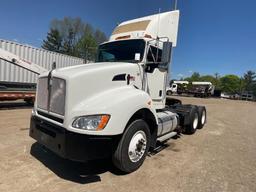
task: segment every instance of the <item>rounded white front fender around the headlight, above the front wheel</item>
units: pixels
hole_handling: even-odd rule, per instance
[[[156,118],[150,96],[133,86],[119,87],[101,92],[81,101],[69,113],[65,122],[67,129],[73,132],[89,135],[119,135],[122,134],[133,114],[143,108],[149,109]],[[87,131],[73,128],[72,122],[76,117],[84,115],[109,114],[110,120],[101,131]],[[156,120],[157,121],[157,120]]]

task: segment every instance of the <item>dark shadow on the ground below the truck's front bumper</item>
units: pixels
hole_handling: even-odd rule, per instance
[[[80,184],[100,182],[99,174],[113,170],[110,160],[73,162],[60,158],[37,142],[31,146],[30,154],[60,178]]]

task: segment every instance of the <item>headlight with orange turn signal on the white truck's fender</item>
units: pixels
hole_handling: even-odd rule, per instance
[[[90,115],[78,117],[72,123],[72,127],[90,131],[99,131],[105,128],[110,115]]]

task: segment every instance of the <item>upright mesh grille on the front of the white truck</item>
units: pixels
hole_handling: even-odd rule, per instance
[[[53,77],[50,82],[50,85],[48,85],[47,77],[39,79],[37,91],[37,106],[40,109],[57,113],[59,115],[64,115],[66,82],[63,79],[56,77]]]

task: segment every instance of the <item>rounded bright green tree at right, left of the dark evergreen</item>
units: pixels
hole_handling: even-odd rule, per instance
[[[237,75],[225,75],[220,78],[223,92],[235,94],[240,92],[241,81]]]

